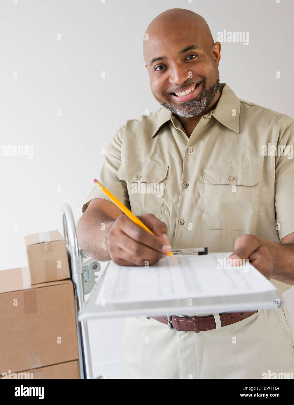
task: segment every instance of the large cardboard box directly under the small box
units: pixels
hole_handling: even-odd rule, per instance
[[[70,279],[31,286],[28,268],[0,271],[0,375],[77,360]]]

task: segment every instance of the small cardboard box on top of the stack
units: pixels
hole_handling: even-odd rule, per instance
[[[70,278],[65,241],[58,230],[24,237],[32,284]]]

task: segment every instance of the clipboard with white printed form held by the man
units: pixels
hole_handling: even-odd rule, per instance
[[[168,288],[169,286],[167,286],[165,276],[168,272],[170,272],[169,274],[171,275],[172,279],[176,277],[175,274],[178,274],[177,277],[182,277],[182,280],[180,281],[184,280],[186,286],[189,285],[190,282],[192,282],[193,284],[193,277],[194,279],[196,277],[196,279],[200,282],[201,287],[205,285],[210,286],[210,284],[212,285],[213,283],[217,285],[217,289],[219,289],[220,294],[208,295],[210,294],[210,292],[207,292],[206,289],[204,289],[202,290],[202,292],[204,292],[205,294],[207,292],[207,294],[201,295],[201,293],[196,293],[195,283],[193,284],[194,287],[191,290],[191,296],[189,296],[189,298],[193,298],[193,306],[188,308],[188,312],[195,313],[197,315],[215,312],[274,309],[276,308],[276,299],[279,298],[281,300],[281,298],[277,295],[277,289],[275,288],[275,286],[273,286],[270,281],[268,281],[256,269],[254,269],[251,264],[249,264],[249,266],[252,266],[253,272],[250,271],[249,273],[244,274],[244,276],[240,275],[240,277],[241,279],[244,279],[244,282],[246,282],[246,280],[249,280],[253,287],[249,289],[246,294],[244,292],[240,293],[237,290],[232,290],[230,294],[226,294],[225,286],[228,286],[231,283],[230,277],[232,277],[232,283],[238,281],[238,277],[235,273],[235,275],[226,275],[226,277],[228,277],[227,279],[222,278],[225,277],[222,274],[228,272],[224,271],[222,273],[221,270],[217,269],[217,260],[219,260],[219,258],[221,257],[223,258],[224,255],[228,257],[228,255],[230,255],[231,253],[208,253],[208,249],[205,247],[193,249],[174,249],[173,253],[178,255],[178,259],[182,262],[182,265],[183,261],[185,261],[186,263],[189,263],[188,266],[186,265],[186,267],[179,267],[177,266],[176,262],[170,260],[170,258],[163,258],[161,259],[163,261],[162,263],[164,263],[164,261],[166,260],[168,262],[168,269],[165,266],[167,262],[165,262],[165,264],[160,264],[159,261],[154,265],[150,265],[148,269],[144,269],[143,266],[122,266],[122,268],[120,268],[121,266],[114,265],[114,267],[112,267],[111,269],[111,272],[107,273],[109,264],[111,263],[111,261],[109,261],[107,263],[107,266],[105,267],[105,270],[94,286],[92,292],[90,293],[88,301],[79,311],[78,320],[81,321],[87,319],[101,319],[109,317],[118,318],[144,315],[162,316],[167,313],[186,313],[187,297],[183,298],[183,296],[178,294],[177,292],[176,294],[174,294],[174,296],[163,294],[161,296],[156,295],[155,298],[152,298],[152,295],[149,294],[151,288],[154,292],[154,285],[156,284],[154,284],[154,281],[156,279],[159,280],[159,284],[156,286],[156,288],[163,288],[163,292],[167,291],[166,288]],[[195,261],[198,263],[198,259],[196,259],[195,256],[199,257],[199,268],[195,268]],[[140,270],[141,273],[139,273]],[[106,273],[108,277],[107,284],[105,286],[105,284],[103,284],[103,281],[105,280]],[[132,274],[133,276],[130,276],[130,274]],[[133,297],[133,301],[126,301],[123,299],[120,300],[120,296],[124,296],[124,288],[128,288],[128,281],[133,280],[132,277],[135,277],[135,279],[139,279],[140,281],[140,285],[135,287],[137,288],[135,298]],[[207,284],[202,283],[203,278],[208,280]],[[112,280],[110,284],[109,279]],[[211,281],[213,282],[211,283]],[[260,283],[260,286],[262,286],[263,288],[263,290],[260,290],[260,292],[257,290],[256,281]],[[103,291],[101,291],[102,286],[104,287]],[[180,284],[174,283],[173,286],[176,290],[178,290]],[[105,288],[106,290],[108,289],[108,291],[114,292],[116,295],[118,293],[118,295],[120,295],[118,299],[111,301],[111,297],[107,296],[106,294],[104,300],[105,303],[103,304],[102,302],[100,302],[104,297]],[[232,287],[229,286],[227,288]],[[147,291],[147,294],[146,289],[149,289]],[[127,290],[125,291],[127,292]]]

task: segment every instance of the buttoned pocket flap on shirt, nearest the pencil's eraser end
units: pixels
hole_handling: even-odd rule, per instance
[[[168,166],[164,164],[140,164],[124,160],[116,176],[120,180],[131,181],[133,183],[160,183],[167,175]]]

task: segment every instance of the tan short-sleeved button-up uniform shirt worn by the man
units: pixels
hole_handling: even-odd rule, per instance
[[[231,252],[242,234],[279,242],[294,232],[294,120],[225,83],[220,92],[189,139],[161,107],[128,120],[105,153],[101,183],[135,215],[165,222],[172,249]],[[92,198],[109,200],[94,186],[83,213]],[[271,281],[279,293],[290,288]]]

